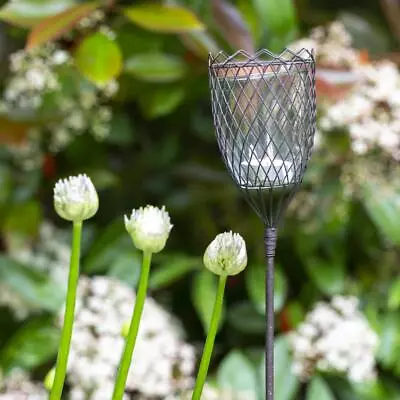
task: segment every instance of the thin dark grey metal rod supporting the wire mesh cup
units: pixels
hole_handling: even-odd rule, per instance
[[[276,249],[276,228],[265,229],[266,272],[266,332],[265,332],[265,398],[274,399],[274,258]]]

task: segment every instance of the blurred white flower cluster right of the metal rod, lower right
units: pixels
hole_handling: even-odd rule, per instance
[[[378,336],[358,311],[356,297],[320,302],[291,335],[293,371],[302,380],[314,370],[346,375],[353,382],[375,377]]]

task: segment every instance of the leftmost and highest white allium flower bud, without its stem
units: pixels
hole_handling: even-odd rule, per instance
[[[60,179],[54,186],[54,208],[68,221],[89,219],[99,208],[96,188],[86,175]]]

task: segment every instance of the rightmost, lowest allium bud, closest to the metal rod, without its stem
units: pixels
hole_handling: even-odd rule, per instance
[[[203,261],[214,274],[237,275],[247,265],[246,243],[238,233],[220,233],[208,245]]]

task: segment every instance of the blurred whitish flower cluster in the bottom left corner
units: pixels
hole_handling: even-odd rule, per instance
[[[22,370],[14,369],[0,378],[0,400],[47,400],[48,396],[43,384],[32,382]]]

